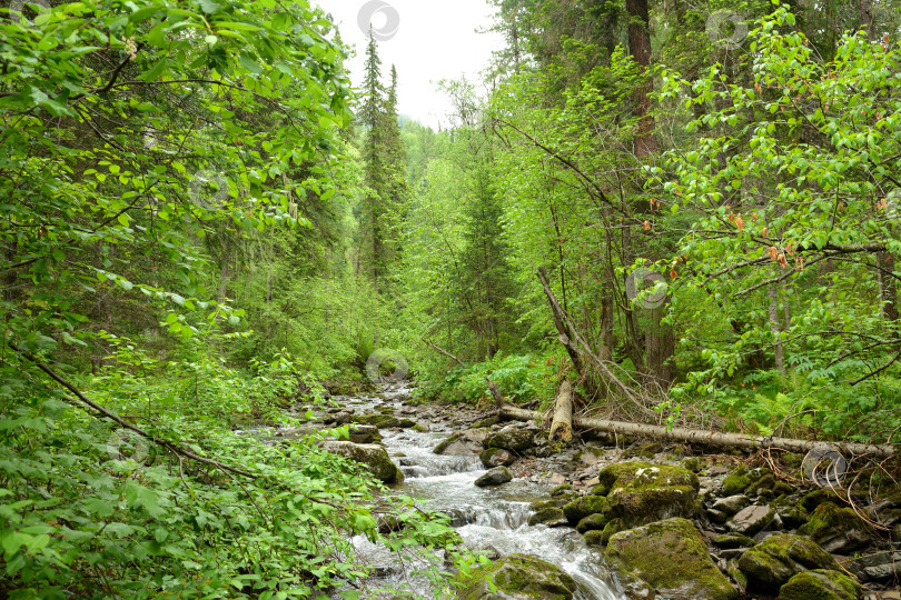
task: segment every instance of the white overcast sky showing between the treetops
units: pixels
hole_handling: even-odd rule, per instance
[[[372,10],[372,0],[316,1],[338,22],[344,41],[356,47],[348,67],[354,86],[359,87],[367,38],[360,31],[358,16],[364,8]],[[446,127],[449,106],[436,83],[462,74],[481,81],[477,76],[488,67],[492,51],[503,46],[495,33],[475,32],[492,24],[494,8],[487,0],[383,0],[383,3],[390,4],[399,17],[397,33],[378,42],[385,83],[392,64],[397,67],[398,112],[436,129],[439,122]],[[389,9],[375,13],[372,20],[376,30],[388,26],[388,12]]]

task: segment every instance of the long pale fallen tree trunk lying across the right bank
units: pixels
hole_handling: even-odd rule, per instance
[[[504,406],[501,416],[521,421],[541,421],[544,414],[533,410],[524,410],[516,407]],[[809,452],[815,448],[830,447],[839,450],[846,457],[871,456],[875,458],[889,458],[895,454],[893,446],[877,446],[870,443],[853,442],[830,442],[830,441],[808,441],[791,438],[764,438],[762,436],[749,436],[746,433],[722,433],[717,431],[703,431],[699,429],[685,429],[674,427],[666,429],[661,426],[625,423],[622,421],[607,421],[605,419],[573,419],[573,424],[581,429],[593,429],[607,433],[624,436],[643,436],[661,440],[701,443],[707,446],[733,447],[733,448],[775,448],[789,452]]]

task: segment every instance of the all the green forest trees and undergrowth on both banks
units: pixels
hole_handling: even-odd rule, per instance
[[[242,432],[380,349],[420,402],[898,443],[898,1],[489,3],[442,131],[307,0],[0,10],[0,596],[362,597],[354,533],[468,568],[346,428]]]

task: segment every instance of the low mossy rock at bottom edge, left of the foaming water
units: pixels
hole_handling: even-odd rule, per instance
[[[488,588],[488,574],[494,578],[496,592]],[[469,574],[459,572],[455,582],[462,586],[457,589],[459,600],[572,600],[578,587],[560,567],[527,554],[509,554]]]

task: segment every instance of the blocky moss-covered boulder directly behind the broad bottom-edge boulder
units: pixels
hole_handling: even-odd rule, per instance
[[[606,496],[606,514],[622,519],[626,527],[691,517],[696,510],[697,476],[682,467],[621,462],[602,469],[598,479],[593,493]]]

